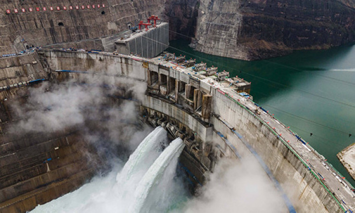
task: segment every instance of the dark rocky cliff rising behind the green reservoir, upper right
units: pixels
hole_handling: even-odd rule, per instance
[[[255,60],[354,42],[354,5],[353,0],[200,0],[196,50]]]

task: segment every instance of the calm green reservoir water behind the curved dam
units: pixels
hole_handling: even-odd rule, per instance
[[[355,143],[355,45],[242,61],[199,53],[188,44],[171,41],[168,51],[251,81],[254,101],[301,135],[355,186],[336,157]]]

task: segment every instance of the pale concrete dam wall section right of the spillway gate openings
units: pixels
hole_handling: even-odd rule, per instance
[[[298,200],[294,202],[298,212],[342,212],[336,200],[272,129],[227,96],[215,92],[214,97],[214,110],[220,115],[212,118],[214,128],[236,144],[238,150],[245,146],[230,127],[240,133],[262,157],[290,199]]]

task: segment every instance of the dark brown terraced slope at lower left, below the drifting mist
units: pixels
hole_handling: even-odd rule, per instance
[[[22,118],[13,105],[25,105],[28,95],[26,86],[0,92],[0,212],[26,212],[78,188],[99,162],[80,128],[45,133],[17,129]]]

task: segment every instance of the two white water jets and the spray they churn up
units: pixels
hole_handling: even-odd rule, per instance
[[[107,176],[97,176],[80,189],[39,205],[31,212],[120,213],[129,212],[135,202],[143,203],[150,212],[166,212],[176,200],[186,197],[180,179],[175,179],[177,158],[183,149],[182,141],[174,140],[162,153],[162,147],[166,144],[166,131],[157,127],[141,142],[120,172],[122,167],[118,163]],[[162,157],[158,157],[160,153]],[[158,168],[159,165],[162,168]],[[154,175],[152,172],[158,173]],[[141,184],[142,181],[149,183],[149,188]],[[140,187],[146,193],[141,197],[143,200],[135,196]],[[166,190],[162,193],[161,188]]]

